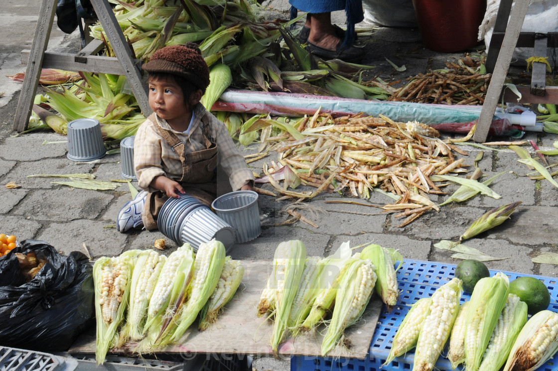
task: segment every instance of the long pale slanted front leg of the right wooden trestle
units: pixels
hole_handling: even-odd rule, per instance
[[[479,120],[477,121],[477,129],[475,130],[475,134],[473,134],[473,140],[475,142],[482,143],[487,139],[488,131],[490,130],[490,125],[492,125],[494,112],[496,112],[498,99],[502,93],[504,80],[508,74],[509,63],[512,60],[517,37],[521,32],[528,6],[529,0],[516,0],[514,2],[508,27],[506,28],[506,36],[504,36],[502,48],[500,49],[496,65],[494,66],[494,73],[488,85],[487,95],[484,99],[483,108],[480,111]]]

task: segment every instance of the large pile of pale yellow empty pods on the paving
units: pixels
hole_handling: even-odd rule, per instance
[[[278,125],[270,121],[260,119],[252,126],[270,129],[262,131],[260,152],[277,151],[278,162],[264,164],[265,176],[256,182],[271,183],[282,195],[278,200],[310,199],[324,191],[368,199],[371,191],[378,191],[396,200],[382,208],[405,217],[402,227],[430,209],[439,211],[429,194],[446,193],[431,177],[467,172],[465,159],[454,156],[466,153],[416,121],[360,115],[333,118],[318,111],[294,125],[281,123],[287,130],[279,136],[270,136],[271,126]],[[301,183],[316,189],[292,189]]]

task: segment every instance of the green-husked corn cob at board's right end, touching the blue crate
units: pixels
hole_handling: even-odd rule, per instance
[[[393,259],[395,257],[395,259]],[[368,245],[360,253],[360,259],[370,259],[376,267],[378,282],[376,292],[386,303],[388,311],[397,304],[399,287],[397,285],[397,270],[403,265],[403,256],[393,249],[384,249],[380,245]],[[399,260],[400,264],[395,269],[393,264]]]

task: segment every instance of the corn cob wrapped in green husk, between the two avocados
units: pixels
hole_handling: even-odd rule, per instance
[[[508,298],[509,279],[498,272],[475,285],[465,316],[465,368],[477,371]]]

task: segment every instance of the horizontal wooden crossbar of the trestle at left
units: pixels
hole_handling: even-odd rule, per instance
[[[21,63],[27,65],[29,50],[21,51]],[[66,71],[83,71],[94,73],[110,73],[124,75],[124,70],[118,59],[110,56],[89,55],[81,56],[80,61],[75,60],[75,54],[68,53],[45,53],[42,68],[57,68]],[[83,60],[83,62],[81,62]]]

